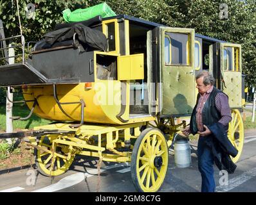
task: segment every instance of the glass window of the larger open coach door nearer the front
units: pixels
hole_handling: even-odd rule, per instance
[[[165,33],[170,37],[170,65],[190,65],[190,44],[187,33]]]

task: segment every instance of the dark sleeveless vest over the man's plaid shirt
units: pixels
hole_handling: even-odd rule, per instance
[[[205,106],[203,107],[203,111],[202,111],[203,124],[207,127],[212,126],[213,124],[215,124],[221,119],[221,113],[219,113],[219,111],[215,106],[215,97],[219,92],[221,92],[221,90],[218,90],[217,88],[214,87],[210,96],[205,102]],[[197,94],[196,106],[194,107],[194,110],[192,112],[191,119],[190,119],[190,131],[193,135],[195,135],[198,131],[197,124],[196,124],[196,108],[199,101],[199,97],[200,97],[200,94]],[[225,126],[224,129],[228,130],[228,126]]]

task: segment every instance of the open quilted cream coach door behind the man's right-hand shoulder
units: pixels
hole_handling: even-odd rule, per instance
[[[241,45],[220,44],[221,90],[228,95],[231,108],[242,106]]]

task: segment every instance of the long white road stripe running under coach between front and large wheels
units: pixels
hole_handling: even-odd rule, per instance
[[[127,165],[129,165],[129,164],[128,163],[120,163],[120,164],[114,164],[114,165],[102,167],[100,169],[100,173],[104,172],[105,170],[109,170],[111,168],[124,167]],[[68,188],[69,186],[78,184],[78,183],[84,181],[85,177],[87,177],[87,178],[92,177],[92,176],[95,176],[95,174],[98,174],[98,169],[96,169],[96,168],[88,170],[88,173],[79,172],[76,174],[72,174],[70,176],[64,177],[63,179],[60,179],[60,181],[58,181],[55,184],[51,184],[50,186],[46,186],[44,188],[35,190],[33,192],[56,192],[56,191],[62,190],[64,188]]]

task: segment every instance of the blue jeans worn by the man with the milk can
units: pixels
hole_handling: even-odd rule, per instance
[[[214,156],[205,141],[210,136],[199,136],[197,146],[198,169],[202,177],[201,192],[215,192]]]

